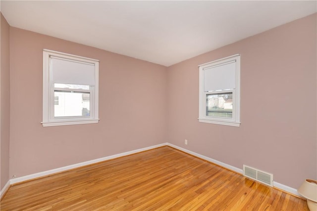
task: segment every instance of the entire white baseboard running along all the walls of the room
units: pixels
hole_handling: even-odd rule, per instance
[[[143,152],[143,151],[146,151],[146,150],[151,150],[151,149],[162,147],[162,146],[170,146],[172,148],[175,148],[175,149],[180,150],[182,152],[185,152],[185,153],[188,153],[190,155],[196,156],[198,158],[202,158],[202,159],[205,159],[207,161],[213,162],[213,163],[215,163],[215,164],[217,164],[219,166],[222,166],[224,168],[230,169],[230,170],[232,170],[234,172],[243,174],[243,170],[241,168],[237,168],[235,166],[226,164],[224,162],[220,162],[218,160],[209,158],[207,156],[200,155],[198,153],[195,153],[193,151],[178,147],[178,146],[170,144],[170,143],[163,143],[163,144],[154,145],[154,146],[151,146],[151,147],[146,147],[146,148],[142,148],[142,149],[138,149],[138,150],[133,150],[133,151],[125,152],[125,153],[120,153],[120,154],[116,154],[116,155],[112,155],[112,156],[107,156],[107,157],[104,157],[104,158],[93,159],[93,160],[80,162],[80,163],[73,164],[73,165],[67,165],[67,166],[64,166],[64,167],[55,168],[55,169],[48,170],[48,171],[43,171],[43,172],[39,172],[39,173],[35,173],[35,174],[30,174],[30,175],[26,175],[26,176],[10,179],[5,184],[5,186],[1,189],[1,197],[2,197],[2,194],[5,193],[5,191],[9,188],[9,186],[11,184],[15,184],[15,183],[18,183],[18,182],[23,182],[23,181],[30,180],[30,179],[35,179],[35,178],[42,177],[42,176],[47,176],[47,175],[50,175],[50,174],[58,173],[58,172],[65,171],[65,170],[70,170],[70,169],[73,169],[73,168],[78,168],[78,167],[81,167],[81,166],[85,166],[85,165],[89,165],[89,164],[93,164],[93,163],[97,163],[97,162],[101,162],[101,161],[105,161],[105,160],[109,160],[109,159],[113,159],[113,158],[119,158],[119,157],[122,157],[122,156],[128,156],[128,155],[131,155],[131,154]],[[297,190],[295,188],[291,188],[289,186],[280,184],[278,182],[273,182],[273,187],[276,187],[276,188],[281,189],[281,190],[283,190],[285,192],[288,192],[288,193],[291,193],[293,195],[301,197],[301,195],[297,192]]]

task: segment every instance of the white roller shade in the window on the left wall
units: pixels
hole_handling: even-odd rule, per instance
[[[53,83],[95,85],[95,65],[51,56]]]

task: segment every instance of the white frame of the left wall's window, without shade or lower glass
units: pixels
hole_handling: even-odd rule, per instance
[[[54,88],[53,70],[51,68],[50,57],[60,57],[62,59],[70,59],[77,62],[90,63],[95,66],[95,85],[90,86],[90,90],[77,90],[68,88]],[[61,53],[56,51],[43,50],[43,127],[74,125],[74,124],[89,124],[98,123],[99,121],[99,60],[87,58],[83,56]],[[67,116],[54,117],[54,90],[60,91],[80,91],[90,93],[90,116]]]

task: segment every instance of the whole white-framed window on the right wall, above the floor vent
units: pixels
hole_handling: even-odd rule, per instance
[[[240,55],[199,65],[199,121],[240,126]]]

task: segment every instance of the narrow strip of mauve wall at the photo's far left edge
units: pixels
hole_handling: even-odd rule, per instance
[[[9,24],[0,13],[1,19],[1,72],[0,72],[0,149],[1,149],[1,168],[0,168],[0,189],[9,180],[9,135],[10,135],[10,59],[9,59]]]

